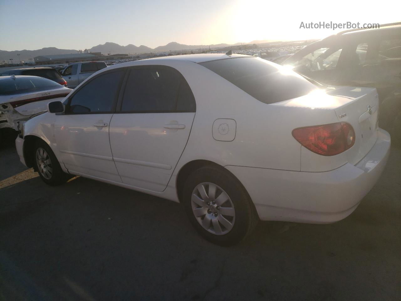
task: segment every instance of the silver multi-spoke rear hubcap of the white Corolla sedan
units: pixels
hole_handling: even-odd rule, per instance
[[[235,209],[227,193],[216,184],[204,182],[192,191],[192,212],[201,226],[216,235],[233,228]]]

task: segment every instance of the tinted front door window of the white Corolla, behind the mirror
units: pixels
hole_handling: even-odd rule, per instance
[[[95,77],[79,89],[69,101],[67,114],[109,113],[113,106],[122,81],[124,71],[105,73]]]

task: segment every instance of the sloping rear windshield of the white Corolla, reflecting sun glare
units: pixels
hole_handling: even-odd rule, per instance
[[[200,63],[265,104],[304,96],[318,87],[294,71],[257,57]]]

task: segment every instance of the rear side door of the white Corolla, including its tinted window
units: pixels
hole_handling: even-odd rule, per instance
[[[166,66],[133,67],[110,122],[123,183],[163,191],[188,141],[196,110],[184,77]]]

